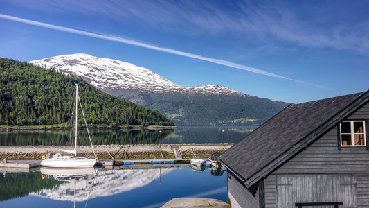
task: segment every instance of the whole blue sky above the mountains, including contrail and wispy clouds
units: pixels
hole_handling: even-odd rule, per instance
[[[369,1],[0,0],[0,57],[87,53],[291,103],[369,89]]]

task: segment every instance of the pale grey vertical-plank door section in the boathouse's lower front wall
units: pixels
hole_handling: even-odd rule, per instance
[[[277,175],[277,207],[294,207],[296,202],[343,202],[357,207],[356,176]]]

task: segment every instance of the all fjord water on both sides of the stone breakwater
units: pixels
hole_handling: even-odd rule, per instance
[[[255,127],[177,128],[162,130],[93,129],[96,145],[235,143]],[[224,131],[223,131],[224,130]],[[79,131],[78,145],[89,145]],[[0,146],[68,145],[73,135],[64,130],[0,132]],[[0,168],[0,207],[161,207],[172,198],[201,197],[228,201],[226,171],[195,171],[189,164],[116,166],[96,175],[67,180],[44,175],[42,168],[21,173]],[[215,176],[217,175],[217,176]],[[75,191],[74,191],[75,190]]]

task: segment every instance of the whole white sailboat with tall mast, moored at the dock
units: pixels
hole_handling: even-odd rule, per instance
[[[95,159],[89,159],[87,157],[77,155],[78,101],[80,103],[80,108],[82,111],[84,123],[87,128],[87,134],[89,135],[91,148],[93,151],[93,155],[95,155]],[[53,157],[48,157],[48,155],[46,155],[45,159],[42,159],[41,161],[41,166],[51,167],[51,168],[90,168],[90,167],[95,166],[96,164],[96,160],[97,160],[96,153],[95,153],[95,150],[93,150],[93,145],[92,145],[91,137],[89,134],[89,128],[87,127],[87,122],[86,122],[86,119],[84,118],[84,112],[82,110],[80,96],[78,96],[78,84],[75,84],[75,147],[73,150],[60,149],[60,151],[64,153],[71,153],[73,156],[64,155],[63,153],[56,153],[55,155],[53,155]]]

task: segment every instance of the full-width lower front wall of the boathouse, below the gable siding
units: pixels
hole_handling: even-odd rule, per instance
[[[265,207],[295,207],[296,202],[343,202],[342,208],[369,207],[369,173],[269,175],[264,183],[266,196],[273,196],[265,200]]]

